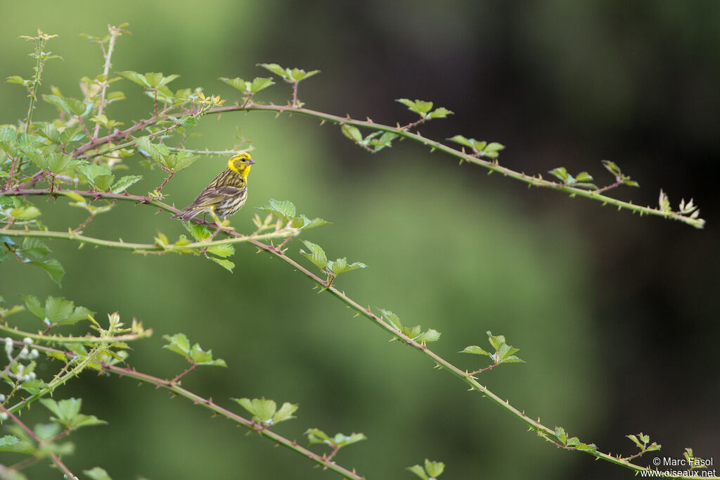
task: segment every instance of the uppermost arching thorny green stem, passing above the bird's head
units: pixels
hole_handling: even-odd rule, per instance
[[[323,122],[330,122],[336,125],[353,125],[355,127],[359,128],[369,128],[370,130],[379,130],[382,132],[390,132],[395,133],[395,135],[399,135],[402,138],[408,138],[410,140],[416,141],[418,143],[422,143],[425,146],[428,146],[432,150],[439,150],[446,154],[449,154],[451,156],[454,156],[458,159],[461,159],[462,161],[467,161],[472,164],[480,165],[487,169],[490,172],[498,172],[499,174],[502,174],[505,177],[510,177],[513,179],[516,179],[520,182],[526,183],[528,187],[542,187],[542,188],[549,188],[551,190],[557,190],[559,192],[565,192],[569,194],[571,197],[585,197],[589,198],[590,200],[596,200],[602,205],[613,205],[618,208],[618,210],[630,210],[633,213],[638,213],[639,215],[655,215],[662,218],[668,218],[676,221],[680,221],[683,223],[686,223],[690,226],[693,226],[695,228],[703,228],[705,225],[705,221],[702,218],[690,218],[689,216],[680,215],[678,212],[667,212],[660,210],[658,208],[652,208],[652,207],[644,207],[642,205],[634,205],[634,203],[631,202],[625,202],[623,200],[618,200],[613,197],[608,197],[606,195],[601,195],[598,190],[583,190],[582,188],[577,187],[569,187],[567,185],[563,185],[561,183],[552,182],[546,179],[543,179],[540,175],[533,176],[528,175],[523,172],[516,172],[513,169],[509,169],[506,166],[502,166],[500,164],[495,163],[494,161],[488,161],[482,158],[479,158],[477,156],[473,156],[470,154],[466,154],[464,151],[456,150],[455,148],[452,148],[450,146],[446,146],[438,141],[431,140],[429,138],[423,137],[423,135],[420,135],[420,133],[411,133],[410,131],[406,130],[402,127],[391,127],[389,125],[382,125],[380,123],[374,123],[372,120],[354,120],[350,117],[340,117],[338,115],[330,115],[328,113],[324,112],[318,112],[317,110],[310,110],[308,108],[302,108],[302,107],[291,107],[289,105],[259,105],[255,103],[248,103],[248,105],[228,105],[225,107],[215,107],[209,110],[207,113],[222,113],[222,112],[238,112],[238,111],[250,111],[250,110],[263,110],[263,111],[269,111],[269,112],[276,112],[276,113],[282,113],[282,112],[290,112],[290,113],[298,113],[300,115],[306,115],[308,117],[318,118],[320,120],[323,120]]]

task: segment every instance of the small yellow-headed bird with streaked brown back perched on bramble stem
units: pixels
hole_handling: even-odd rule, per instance
[[[218,216],[225,219],[233,215],[248,197],[248,174],[254,163],[247,152],[233,156],[225,170],[197,195],[194,202],[171,218],[181,218],[187,222],[199,213],[210,213],[220,223],[217,221]]]

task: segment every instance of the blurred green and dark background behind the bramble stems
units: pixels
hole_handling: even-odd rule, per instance
[[[410,142],[370,155],[336,127],[264,112],[206,117],[194,130],[202,138],[188,143],[222,150],[239,133],[251,139],[258,163],[233,226],[251,231],[253,207],[271,197],[332,221],[305,238],[331,258],[369,265],[343,275],[339,286],[406,324],[438,329],[443,337],[432,348],[456,365],[483,366],[456,352],[487,345],[487,330],[505,334],[527,363],[483,373],[481,382],[511,404],[606,452],[634,453],[624,435],[642,430],[662,443],[663,455],[678,458],[692,446],[711,457],[720,455],[711,163],[720,153],[719,21],[720,4],[710,0],[6,2],[0,76],[30,76],[31,45],[16,39],[40,28],[60,35],[48,49],[64,58],[48,63],[43,89],[79,97],[78,79],[101,73],[102,55],[78,34],[102,36],[108,23],[129,22],[114,71],[180,74],[174,89],[203,86],[233,102],[238,92],[218,77],[267,76],[256,67],[264,62],[318,68],[322,74],[301,84],[308,107],[402,124],[413,116],[394,99],[432,100],[455,115],[423,125],[423,135],[499,141],[508,146],[501,163],[514,169],[562,165],[603,184],[612,179],[600,159],[612,159],[642,185],[618,191],[621,197],[655,205],[660,187],[673,205],[694,197],[705,231],[528,190]],[[285,102],[289,86],[277,83],[261,99]],[[140,87],[113,86],[128,99],[109,107],[110,117],[127,125],[148,115]],[[0,84],[0,98],[0,123],[24,117],[21,87]],[[47,119],[53,109],[41,102],[36,115]],[[131,190],[153,190],[162,172],[136,160],[127,161],[130,173],[145,178]],[[176,175],[163,189],[168,202],[192,201],[224,164],[205,158]],[[35,201],[56,229],[85,218],[66,200]],[[184,233],[168,215],[130,204],[86,228],[143,242],[158,231]],[[200,369],[184,378],[186,388],[225,406],[230,396],[298,403],[298,418],[277,431],[301,442],[309,427],[364,432],[369,440],[337,460],[368,478],[413,478],[402,469],[424,458],[444,461],[448,479],[631,476],[526,433],[249,247],[238,246],[230,274],[198,257],[50,246],[66,267],[63,288],[39,270],[4,262],[7,303],[19,303],[20,293],[63,295],[99,319],[112,311],[136,317],[155,334],[134,345],[131,365],[168,378],[186,364],[161,350],[161,336],[184,332],[229,367]],[[289,246],[299,258],[300,242]],[[39,327],[29,314],[17,321]],[[72,435],[78,453],[66,460],[76,474],[99,465],[115,479],[334,475],[127,379],[86,373],[55,399],[71,394],[82,396],[84,412],[109,422]],[[56,476],[45,466],[28,474]]]

